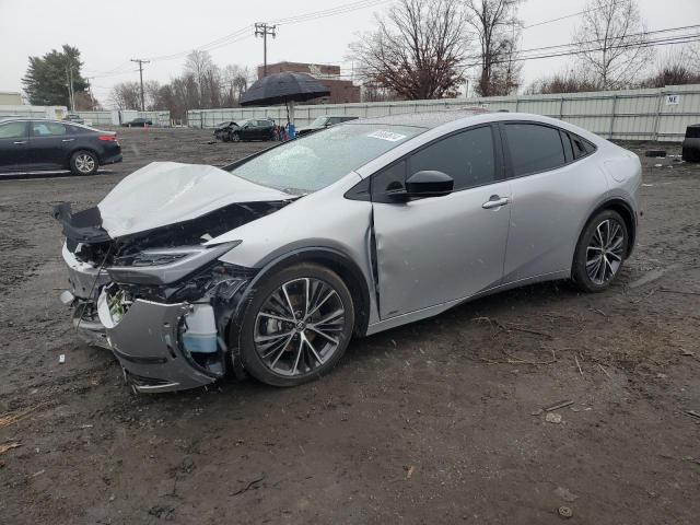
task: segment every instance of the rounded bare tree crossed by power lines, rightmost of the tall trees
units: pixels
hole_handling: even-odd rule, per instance
[[[635,0],[588,0],[573,43],[599,89],[619,90],[634,82],[654,52],[645,32]]]

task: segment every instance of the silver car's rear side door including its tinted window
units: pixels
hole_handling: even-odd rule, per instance
[[[607,190],[595,147],[539,122],[500,128],[513,192],[503,282],[569,271],[582,222]]]

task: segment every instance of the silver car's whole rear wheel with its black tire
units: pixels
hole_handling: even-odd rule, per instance
[[[598,244],[606,244],[604,238],[598,242],[600,235],[606,236],[606,223],[610,228],[607,234],[608,246],[597,248]],[[600,231],[598,231],[598,226],[600,226]],[[611,232],[616,232],[618,228],[619,232],[612,235]],[[607,290],[619,276],[628,253],[629,232],[625,220],[617,211],[600,211],[588,221],[579,237],[573,258],[572,278],[574,283],[581,291],[587,293]],[[598,260],[596,261],[596,259]]]

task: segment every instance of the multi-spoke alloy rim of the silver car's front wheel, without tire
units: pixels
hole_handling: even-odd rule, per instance
[[[306,375],[336,353],[345,320],[340,295],[328,282],[294,279],[273,291],[258,311],[255,350],[277,374]]]

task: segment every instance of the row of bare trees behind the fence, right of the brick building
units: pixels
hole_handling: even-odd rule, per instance
[[[400,0],[353,43],[370,100],[570,93],[700,82],[700,54],[686,45],[655,61],[635,0],[588,0],[571,36],[569,67],[523,84],[525,0]],[[565,55],[564,52],[561,54]]]

